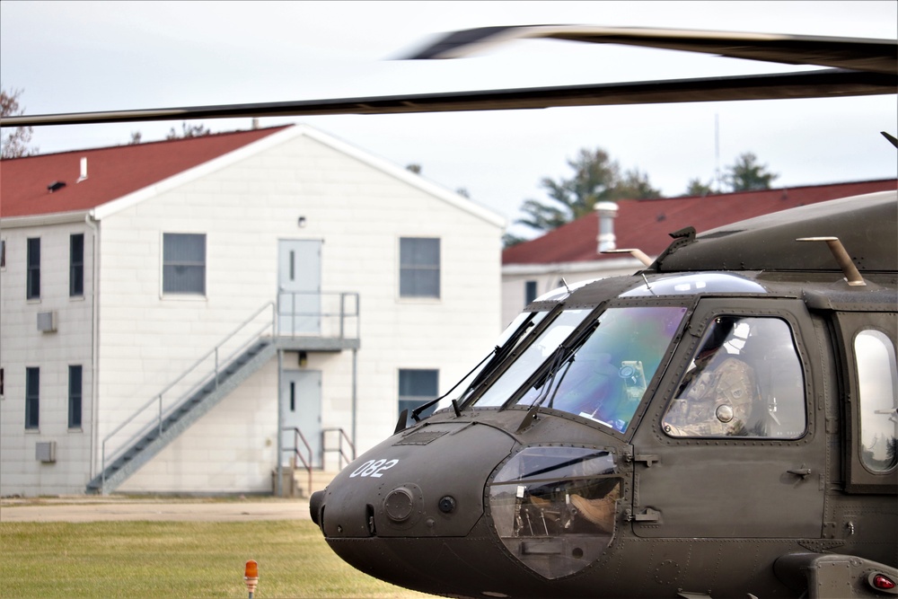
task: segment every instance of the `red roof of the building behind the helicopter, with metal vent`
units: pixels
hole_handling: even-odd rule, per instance
[[[693,226],[696,232],[701,233],[787,208],[893,189],[898,189],[898,180],[885,179],[741,191],[706,197],[629,199],[618,202],[618,216],[614,219],[616,245],[619,248],[638,248],[649,256],[657,256],[670,245],[669,233],[686,226]],[[582,216],[533,241],[507,248],[502,252],[502,263],[555,264],[620,258],[618,254],[598,253],[598,230],[596,214]]]

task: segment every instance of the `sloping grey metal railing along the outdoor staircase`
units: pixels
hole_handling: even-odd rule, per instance
[[[232,339],[234,339],[237,335],[242,332],[246,332],[253,322],[256,322],[259,316],[264,313],[266,310],[271,311],[271,318],[262,324],[261,327],[255,330],[250,330],[250,334],[246,336],[246,339],[243,340],[239,345],[234,349],[229,349],[227,356],[222,357],[222,350],[225,348],[225,345],[228,344]],[[102,474],[102,488],[106,488],[106,464],[107,464],[107,456],[106,456],[106,445],[110,442],[113,436],[116,436],[119,431],[123,428],[128,427],[134,423],[136,418],[144,416],[145,424],[142,426],[137,424],[136,426],[140,427],[138,431],[131,436],[128,437],[126,441],[121,443],[113,452],[110,453],[109,462],[115,462],[121,454],[124,454],[128,451],[132,445],[134,445],[139,439],[146,436],[154,427],[158,427],[158,434],[162,435],[163,433],[163,422],[165,418],[167,418],[174,410],[180,407],[185,401],[188,401],[190,397],[194,395],[194,393],[198,392],[199,389],[206,386],[209,383],[215,383],[216,389],[218,387],[218,382],[220,379],[220,374],[222,374],[223,366],[229,366],[232,360],[235,357],[241,355],[243,351],[251,346],[252,343],[261,338],[263,333],[266,330],[270,330],[271,334],[274,334],[275,330],[275,322],[277,321],[277,313],[276,306],[274,302],[267,302],[262,305],[259,310],[247,318],[245,321],[241,322],[231,333],[225,336],[224,339],[218,342],[215,348],[212,348],[206,355],[200,357],[192,366],[189,366],[187,370],[178,376],[172,383],[169,383],[161,392],[155,394],[150,401],[147,401],[140,408],[135,410],[131,416],[126,418],[118,427],[115,427],[109,435],[103,438],[102,446],[101,446],[101,474]],[[193,384],[189,387],[188,391],[180,392],[179,397],[180,401],[176,401],[172,403],[167,409],[164,408],[163,405],[163,397],[165,394],[172,390],[175,386],[181,383],[184,379],[186,379],[190,374],[195,374],[198,371],[199,366],[201,366],[204,362],[210,357],[215,357],[215,364],[212,368],[212,371],[207,373],[206,375],[201,375],[199,382]],[[151,407],[156,405],[155,410],[150,410]],[[157,437],[158,438],[158,437]]]

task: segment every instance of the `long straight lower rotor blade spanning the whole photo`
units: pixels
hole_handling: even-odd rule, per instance
[[[403,114],[464,110],[522,110],[570,106],[693,101],[772,100],[895,93],[898,75],[824,69],[774,75],[737,75],[617,84],[436,92],[329,100],[223,104],[3,117],[3,127],[40,127],[157,120]]]

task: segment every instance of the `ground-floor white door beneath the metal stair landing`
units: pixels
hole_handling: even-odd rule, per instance
[[[302,459],[296,458],[297,467],[303,468],[303,460],[309,461],[310,450],[312,462],[308,465],[321,467],[321,371],[285,370],[281,374],[280,401],[281,463],[289,465],[293,450],[298,448]]]

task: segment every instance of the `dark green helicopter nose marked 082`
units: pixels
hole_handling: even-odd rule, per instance
[[[515,440],[471,422],[392,436],[352,462],[310,502],[329,540],[464,536],[483,514],[484,484]]]

